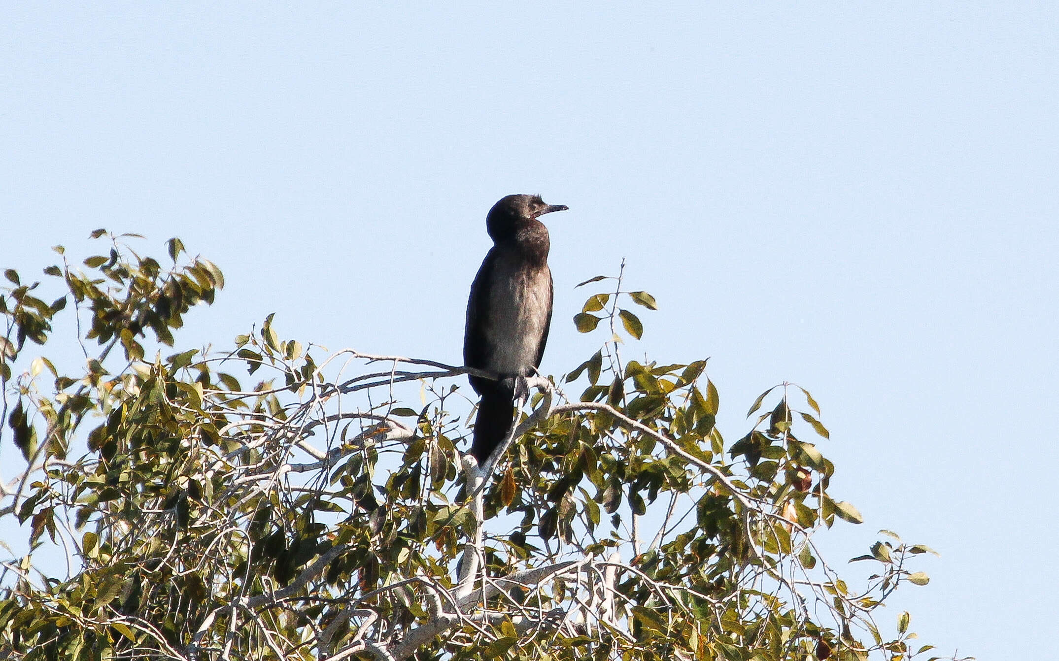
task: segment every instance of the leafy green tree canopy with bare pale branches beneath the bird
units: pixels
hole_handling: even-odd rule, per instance
[[[623,358],[658,305],[621,273],[578,285],[599,351],[532,379],[482,470],[465,368],[328,353],[271,315],[178,346],[221,271],[93,237],[43,282],[4,272],[0,520],[29,544],[0,570],[6,658],[937,658],[881,610],[931,549],[881,531],[856,586],[821,557],[861,515],[809,392],[768,389],[728,441],[705,360]]]

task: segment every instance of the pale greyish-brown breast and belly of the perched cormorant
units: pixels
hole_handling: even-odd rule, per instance
[[[489,301],[489,367],[501,374],[528,375],[552,307],[548,265],[502,263]]]

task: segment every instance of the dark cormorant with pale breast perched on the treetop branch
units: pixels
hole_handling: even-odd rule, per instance
[[[508,195],[492,206],[485,227],[492,248],[470,286],[464,329],[464,364],[497,373],[470,376],[482,396],[470,451],[484,464],[510,431],[516,380],[540,365],[552,324],[552,271],[548,228],[539,216],[566,211],[539,195]]]

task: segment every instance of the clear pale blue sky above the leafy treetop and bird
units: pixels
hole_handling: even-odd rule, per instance
[[[594,351],[573,285],[626,257],[661,306],[628,355],[711,356],[730,441],[784,379],[821,403],[866,519],[831,560],[880,528],[941,553],[887,619],[1046,657],[1059,5],[569,4],[5,4],[0,266],[177,235],[228,280],[183,346],[275,311],[459,362],[485,213],[540,193],[570,207],[544,372]]]

